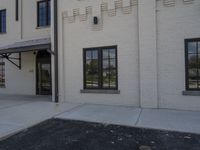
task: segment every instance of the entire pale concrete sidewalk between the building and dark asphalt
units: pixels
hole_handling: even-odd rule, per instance
[[[53,117],[200,134],[200,112],[55,104],[48,97],[0,96],[0,140]]]

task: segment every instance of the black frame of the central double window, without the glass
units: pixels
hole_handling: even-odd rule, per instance
[[[112,88],[105,88],[103,87],[103,49],[115,49],[115,71],[116,71],[116,87]],[[99,71],[99,77],[98,77],[98,87],[87,87],[86,86],[86,52],[91,50],[97,50],[98,51],[98,71]],[[110,85],[109,85],[110,86]],[[114,46],[104,46],[104,47],[92,47],[92,48],[84,48],[83,49],[83,88],[86,90],[118,90],[118,49],[117,45]]]

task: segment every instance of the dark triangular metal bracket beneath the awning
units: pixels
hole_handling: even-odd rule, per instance
[[[21,52],[18,53],[18,57],[10,57],[12,53],[7,53],[7,54],[0,54],[1,55],[1,58],[5,58],[7,59],[9,62],[11,62],[13,65],[15,65],[17,68],[19,68],[21,70]],[[13,60],[17,60],[18,63],[16,63],[15,61]]]

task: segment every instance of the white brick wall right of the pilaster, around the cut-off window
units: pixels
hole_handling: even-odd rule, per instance
[[[192,2],[192,1],[191,1]],[[157,2],[158,93],[160,108],[200,110],[199,96],[185,90],[184,39],[200,37],[200,1],[173,6]]]

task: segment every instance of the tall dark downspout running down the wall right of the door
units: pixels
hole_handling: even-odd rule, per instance
[[[55,69],[55,103],[59,102],[58,90],[58,1],[54,0],[54,69]]]

